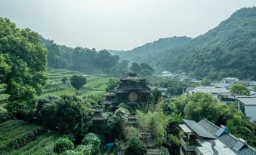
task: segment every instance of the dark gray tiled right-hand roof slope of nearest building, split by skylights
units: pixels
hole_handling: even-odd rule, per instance
[[[218,129],[220,129],[218,126],[214,125],[214,123],[211,123],[206,119],[200,120],[198,124],[213,135],[215,134],[215,132],[217,132]],[[239,139],[230,133],[225,133],[224,135],[221,135],[221,137],[217,139],[221,141],[223,144],[225,144],[227,147],[230,147],[230,149],[233,150],[233,152],[235,152],[236,154],[256,155],[256,150],[254,150],[254,148],[252,148],[251,146],[243,147],[242,150],[239,151],[233,149],[234,145],[236,144],[237,141],[239,141]]]

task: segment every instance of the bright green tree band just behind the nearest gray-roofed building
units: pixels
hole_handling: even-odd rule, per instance
[[[233,104],[218,103],[213,96],[204,93],[177,97],[173,104],[177,114],[195,121],[206,118],[217,126],[227,125],[233,135],[244,138],[248,144],[255,146],[253,125]]]

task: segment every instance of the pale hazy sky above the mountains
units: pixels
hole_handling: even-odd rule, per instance
[[[0,16],[57,44],[130,50],[171,36],[196,37],[256,0],[0,0]]]

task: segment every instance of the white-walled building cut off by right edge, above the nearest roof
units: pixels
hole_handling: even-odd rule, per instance
[[[256,120],[256,97],[254,96],[237,96],[239,102],[238,108],[247,117],[250,117],[251,121]]]

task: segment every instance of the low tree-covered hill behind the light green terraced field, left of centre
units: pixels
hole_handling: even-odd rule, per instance
[[[97,51],[83,47],[66,47],[41,37],[48,49],[48,66],[52,68],[71,68],[75,70],[107,69],[119,62],[119,56],[112,56],[107,50]]]

